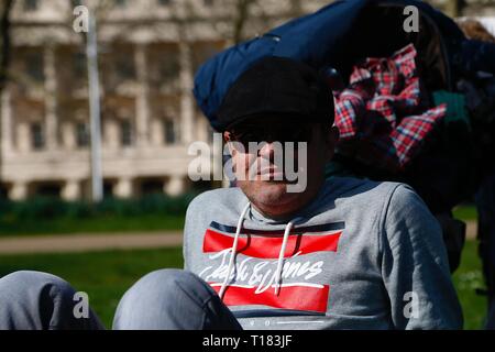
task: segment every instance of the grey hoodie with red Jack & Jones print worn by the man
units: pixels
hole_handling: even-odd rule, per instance
[[[334,177],[286,221],[239,188],[187,210],[186,270],[244,329],[461,329],[440,227],[406,185]]]

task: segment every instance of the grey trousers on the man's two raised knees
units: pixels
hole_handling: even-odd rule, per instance
[[[0,330],[103,329],[89,309],[75,315],[76,290],[62,278],[22,271],[0,278]],[[113,329],[235,329],[241,326],[215,290],[193,273],[160,270],[122,297]]]

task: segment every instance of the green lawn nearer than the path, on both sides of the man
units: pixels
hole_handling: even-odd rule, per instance
[[[0,256],[0,277],[18,270],[35,270],[58,275],[86,292],[90,305],[110,328],[120,297],[141,276],[157,268],[182,267],[182,250],[161,249],[112,251],[81,254],[36,254]],[[485,298],[476,296],[483,287],[476,243],[468,241],[461,266],[453,277],[464,311],[464,327],[483,326]]]

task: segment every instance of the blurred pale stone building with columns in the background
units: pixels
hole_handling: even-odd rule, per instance
[[[2,197],[89,197],[85,36],[73,29],[80,2],[14,3],[11,79],[1,96]],[[187,175],[188,146],[212,136],[191,95],[194,73],[223,47],[330,1],[88,2],[98,19],[105,194],[133,197],[213,186]]]

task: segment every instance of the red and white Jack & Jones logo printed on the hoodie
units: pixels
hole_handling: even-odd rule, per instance
[[[267,306],[324,315],[330,286],[316,283],[323,261],[307,257],[316,252],[337,252],[343,222],[293,229],[284,257],[279,294],[275,294],[275,266],[283,244],[283,232],[243,229],[238,239],[235,278],[227,287],[223,302],[228,306]],[[234,242],[235,228],[211,222],[205,232],[204,253],[220,261],[201,273],[218,293],[227,275],[227,265]],[[290,279],[289,279],[290,278]],[[311,279],[312,278],[312,279]],[[286,283],[285,283],[286,282]]]

